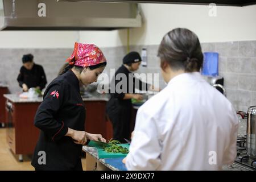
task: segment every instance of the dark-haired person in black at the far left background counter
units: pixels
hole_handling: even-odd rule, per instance
[[[42,90],[47,84],[43,67],[35,64],[33,58],[31,54],[22,57],[23,66],[20,68],[17,80],[23,92],[27,92],[30,88]]]

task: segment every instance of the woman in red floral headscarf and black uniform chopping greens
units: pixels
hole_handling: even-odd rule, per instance
[[[85,132],[85,106],[79,84],[97,81],[106,59],[94,44],[75,43],[69,67],[44,92],[34,124],[40,129],[32,157],[35,170],[82,170],[82,145],[89,140],[106,142],[101,134]],[[97,127],[97,126],[95,126]]]

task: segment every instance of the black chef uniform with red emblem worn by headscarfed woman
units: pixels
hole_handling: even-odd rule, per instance
[[[32,158],[36,170],[82,170],[82,145],[65,136],[68,127],[85,130],[85,106],[79,80],[71,70],[48,85],[34,124],[41,130]],[[40,158],[42,151],[46,154],[46,164],[42,164]]]

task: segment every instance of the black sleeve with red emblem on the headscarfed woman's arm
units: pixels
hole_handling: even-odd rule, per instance
[[[58,121],[54,116],[61,109],[67,98],[67,89],[64,84],[52,84],[47,88],[44,100],[38,107],[34,125],[44,131],[53,141],[59,140],[68,132],[64,121]]]

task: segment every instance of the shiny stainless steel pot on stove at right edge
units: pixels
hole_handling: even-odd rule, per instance
[[[247,111],[247,142],[246,152],[251,159],[256,160],[256,106],[250,106]]]

